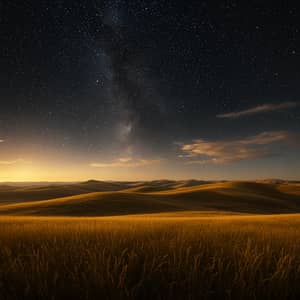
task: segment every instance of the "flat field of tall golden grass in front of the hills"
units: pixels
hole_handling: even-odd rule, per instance
[[[300,215],[1,217],[1,299],[300,299]]]

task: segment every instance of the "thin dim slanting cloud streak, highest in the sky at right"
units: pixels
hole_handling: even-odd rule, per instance
[[[243,116],[250,116],[250,115],[257,115],[261,113],[271,112],[271,111],[278,111],[283,109],[289,109],[298,106],[296,102],[282,102],[278,104],[262,104],[258,106],[251,107],[249,109],[230,112],[226,114],[217,115],[217,118],[227,118],[227,119],[234,119]]]

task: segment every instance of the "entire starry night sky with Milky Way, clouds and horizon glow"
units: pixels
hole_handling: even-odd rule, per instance
[[[0,181],[300,179],[296,1],[0,1]]]

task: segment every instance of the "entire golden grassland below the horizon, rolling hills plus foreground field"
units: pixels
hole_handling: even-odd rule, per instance
[[[0,188],[0,299],[300,299],[300,185]]]

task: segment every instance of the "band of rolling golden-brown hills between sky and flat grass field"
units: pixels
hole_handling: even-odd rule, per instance
[[[297,183],[152,181],[100,182],[0,189],[0,214],[112,216],[217,211],[300,212]]]

